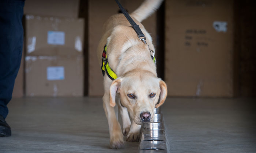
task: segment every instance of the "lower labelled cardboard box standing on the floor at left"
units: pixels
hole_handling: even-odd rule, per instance
[[[82,56],[26,56],[26,96],[83,96]]]

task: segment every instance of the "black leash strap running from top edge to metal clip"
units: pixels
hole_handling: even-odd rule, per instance
[[[132,20],[131,16],[128,14],[128,12],[123,8],[123,6],[119,3],[118,0],[116,0],[117,5],[121,9],[122,13],[126,17],[126,19],[129,21],[129,23],[132,25],[132,28],[137,33],[139,39],[143,41],[146,44],[146,37],[143,34],[143,32],[140,30],[140,27],[138,24],[135,23],[135,21]]]

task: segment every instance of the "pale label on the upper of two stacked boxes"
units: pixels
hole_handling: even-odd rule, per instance
[[[63,31],[48,31],[47,35],[48,44],[64,45],[65,44],[65,32]]]

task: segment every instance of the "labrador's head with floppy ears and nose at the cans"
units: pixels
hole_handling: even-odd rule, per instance
[[[110,106],[116,105],[116,93],[120,93],[121,105],[127,108],[138,125],[154,120],[154,108],[161,106],[167,95],[165,82],[149,71],[137,71],[117,78],[109,91]]]

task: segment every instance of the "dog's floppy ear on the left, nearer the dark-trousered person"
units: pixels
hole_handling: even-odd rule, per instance
[[[114,107],[116,105],[116,93],[120,92],[122,79],[115,79],[109,88],[109,104]]]

